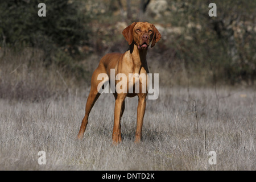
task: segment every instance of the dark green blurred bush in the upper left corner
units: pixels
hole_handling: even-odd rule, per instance
[[[79,11],[81,1],[45,0],[46,17],[39,17],[36,0],[0,1],[0,42],[5,46],[42,48],[47,59],[58,47],[74,53],[88,44],[88,18]],[[56,51],[56,50],[55,50]]]

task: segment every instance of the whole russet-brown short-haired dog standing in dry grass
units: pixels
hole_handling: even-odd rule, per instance
[[[115,97],[115,108],[112,139],[113,143],[121,142],[120,121],[123,111],[125,110],[125,97],[134,97],[137,95],[139,98],[139,102],[137,109],[137,130],[135,133],[135,142],[139,142],[141,140],[143,117],[146,107],[147,89],[146,92],[142,92],[143,82],[140,76],[142,74],[147,75],[148,73],[146,61],[148,46],[151,42],[151,47],[154,47],[155,43],[160,40],[161,34],[155,28],[154,24],[147,22],[134,22],[130,26],[126,27],[125,30],[123,30],[122,34],[130,45],[129,49],[125,53],[108,53],[107,55],[102,57],[98,67],[93,72],[90,93],[85,107],[85,116],[84,119],[82,119],[80,131],[77,135],[78,139],[81,139],[83,137],[86,125],[88,123],[90,110],[92,109],[94,103],[97,101],[97,98],[100,96],[98,88],[101,88],[102,80],[99,80],[98,76],[101,73],[105,73],[105,75],[107,75],[106,77],[108,77],[106,78],[106,80],[108,80],[109,82],[110,80],[113,81],[114,85],[116,86],[120,81],[124,81],[123,79],[118,80],[116,78],[118,73],[122,73],[127,78],[129,77],[129,73],[132,73],[134,75],[139,75],[139,77],[135,76],[135,81],[136,78],[139,80],[139,93],[129,92],[130,80],[127,81],[127,84],[122,84],[122,90],[125,90],[125,92],[118,92],[118,90],[116,89],[113,90],[113,94]],[[110,69],[115,71],[114,78],[111,77],[111,75],[113,76],[113,74],[110,74]],[[132,81],[132,85],[135,84],[135,81]],[[147,81],[144,82],[144,84],[147,85]],[[110,87],[112,87],[111,82]]]

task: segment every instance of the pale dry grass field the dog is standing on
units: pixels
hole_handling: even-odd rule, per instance
[[[159,88],[134,143],[137,97],[126,98],[122,143],[112,146],[114,97],[100,96],[76,140],[89,88],[37,102],[0,100],[1,170],[255,170],[253,89]],[[46,164],[39,165],[39,151]],[[216,152],[216,165],[208,155]]]

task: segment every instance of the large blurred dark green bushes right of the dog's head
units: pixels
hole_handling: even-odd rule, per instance
[[[217,5],[216,17],[208,15],[208,5],[212,2]],[[170,22],[182,31],[171,34],[172,39],[167,39],[165,44],[175,49],[178,61],[184,60],[188,74],[212,75],[209,81],[213,82],[253,84],[256,1],[176,0],[170,6],[172,18],[160,21]],[[168,51],[167,56],[172,54]]]

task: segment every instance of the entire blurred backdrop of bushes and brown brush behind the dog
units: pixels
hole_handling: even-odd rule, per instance
[[[39,1],[1,1],[1,70],[13,72],[18,67],[21,73],[22,63],[27,73],[40,69],[47,77],[58,71],[65,82],[84,87],[105,53],[126,51],[123,28],[147,21],[163,37],[147,56],[150,72],[159,73],[160,84],[254,85],[256,2],[214,1],[217,17],[208,15],[210,2],[46,0],[47,16],[39,17]],[[16,82],[6,71],[0,77],[6,80],[0,82],[1,92]]]

